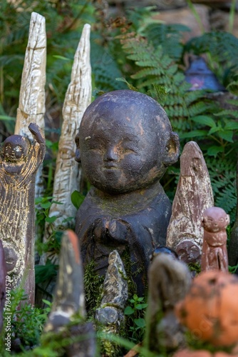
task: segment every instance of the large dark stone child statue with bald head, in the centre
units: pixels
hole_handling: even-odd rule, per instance
[[[92,185],[76,216],[83,262],[105,274],[116,249],[143,293],[150,254],[165,245],[171,205],[159,180],[177,161],[178,136],[154,99],[120,90],[88,106],[76,144]]]

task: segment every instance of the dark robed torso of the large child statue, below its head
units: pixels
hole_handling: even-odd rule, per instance
[[[128,257],[133,280],[144,289],[150,254],[165,245],[171,204],[157,183],[155,187],[128,195],[110,196],[92,188],[76,216],[83,262],[93,259],[95,271],[102,275],[108,256],[117,250],[124,263]]]

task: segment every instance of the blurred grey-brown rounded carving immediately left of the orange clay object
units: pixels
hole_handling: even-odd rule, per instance
[[[184,330],[175,316],[175,305],[190,288],[190,271],[185,263],[166,253],[152,260],[148,271],[146,323],[150,351],[168,353],[184,346]],[[146,338],[145,338],[146,341]]]

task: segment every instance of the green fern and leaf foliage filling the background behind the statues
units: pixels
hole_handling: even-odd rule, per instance
[[[238,39],[228,32],[212,31],[184,44],[182,34],[190,29],[180,24],[151,21],[154,11],[151,7],[133,9],[116,19],[108,19],[105,10],[105,1],[20,0],[17,6],[6,0],[0,2],[1,141],[14,133],[31,12],[38,12],[46,18],[48,153],[43,169],[45,193],[38,201],[40,208],[37,212],[42,235],[53,200],[61,109],[70,81],[73,56],[86,23],[91,25],[93,97],[101,92],[127,89],[129,86],[159,101],[167,111],[173,130],[180,136],[181,151],[190,140],[196,141],[202,149],[212,181],[215,205],[229,213],[232,226],[237,206]],[[188,90],[190,85],[185,81],[184,72],[185,57],[189,54],[205,56],[210,69],[226,88],[224,94]],[[161,180],[171,201],[179,172],[180,165],[177,163],[167,170]],[[87,183],[84,188],[85,195]],[[60,236],[55,236],[50,248],[58,250]],[[49,248],[41,243],[36,246],[40,252]],[[56,275],[56,267],[47,268],[50,268],[49,275]],[[44,274],[38,269],[37,283],[41,282]],[[130,296],[130,303],[132,300],[133,296]],[[137,327],[141,326],[133,326],[134,329]]]

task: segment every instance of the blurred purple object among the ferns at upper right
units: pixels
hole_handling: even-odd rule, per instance
[[[190,91],[209,89],[210,91],[225,91],[202,57],[190,61],[190,67],[185,71],[185,80],[192,84]]]

